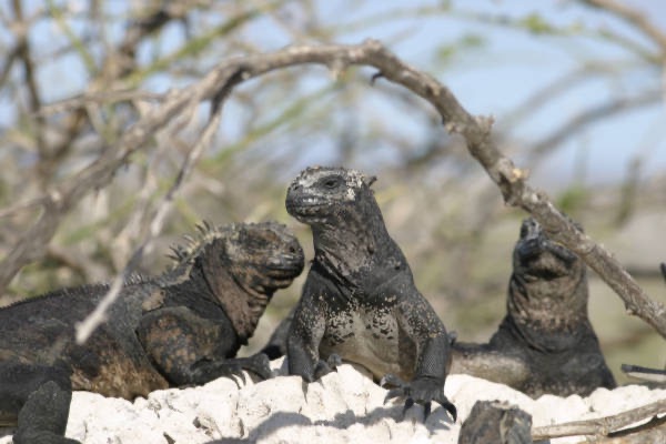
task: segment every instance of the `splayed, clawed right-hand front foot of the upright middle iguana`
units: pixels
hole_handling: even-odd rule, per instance
[[[453,422],[457,418],[457,410],[446,395],[444,395],[444,384],[434,377],[423,376],[407,383],[394,374],[386,374],[380,382],[382,387],[390,386],[384,404],[394,397],[405,397],[405,406],[403,415],[414,405],[414,403],[423,404],[423,421],[427,420],[432,408],[432,402],[440,403],[451,414]]]

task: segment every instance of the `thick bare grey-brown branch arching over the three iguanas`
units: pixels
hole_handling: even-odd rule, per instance
[[[0,287],[9,282],[28,258],[43,252],[46,243],[62,219],[63,208],[78,201],[89,190],[111,181],[113,172],[123,164],[127,157],[140,149],[154,131],[182,112],[189,103],[210,100],[226,84],[306,63],[324,64],[333,72],[340,72],[352,64],[370,65],[379,70],[380,77],[407,88],[430,102],[442,117],[446,130],[465,139],[470,154],[486,170],[506,203],[531,213],[552,239],[577,253],[598,273],[623,299],[628,313],[639,316],[666,337],[664,305],[652,301],[613,255],[574,226],[546,194],[529,186],[527,173],[516,168],[494,143],[491,137],[492,118],[471,115],[446,87],[402,62],[374,40],[357,46],[291,47],[273,53],[233,58],[218,65],[200,82],[173,92],[162,107],[134,124],[97,162],[52,193],[53,199],[47,200],[39,221],[10,252],[9,259],[0,265]],[[43,234],[44,232],[47,234]]]

